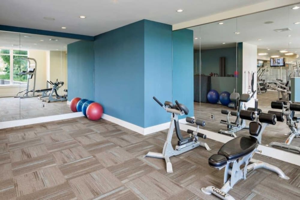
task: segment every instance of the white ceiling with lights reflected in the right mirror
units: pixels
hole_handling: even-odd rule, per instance
[[[257,45],[259,49],[265,49],[265,52],[268,48],[275,51],[287,49],[289,52],[300,52],[300,24],[294,24],[300,22],[300,9],[293,10],[292,7],[287,6],[220,21],[224,22],[223,25],[214,22],[190,28],[194,31],[194,37],[201,37],[198,40],[194,39],[194,47],[199,49],[200,40],[201,49],[232,47],[236,46],[237,42],[246,42]],[[273,23],[265,24],[264,22],[267,21]],[[274,31],[280,28],[291,30]]]

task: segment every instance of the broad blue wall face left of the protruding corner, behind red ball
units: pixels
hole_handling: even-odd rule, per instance
[[[144,127],[144,20],[95,37],[95,101]]]

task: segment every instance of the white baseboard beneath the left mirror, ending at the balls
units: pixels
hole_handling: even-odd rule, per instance
[[[30,124],[39,124],[39,123],[44,123],[49,121],[58,121],[58,120],[70,119],[70,118],[76,118],[82,116],[84,116],[82,112],[73,112],[73,113],[67,113],[62,115],[52,115],[52,116],[37,117],[37,118],[30,118],[30,119],[3,121],[0,122],[0,129],[25,126]]]

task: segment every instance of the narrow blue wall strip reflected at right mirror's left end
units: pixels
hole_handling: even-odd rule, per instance
[[[193,31],[173,31],[173,102],[187,106],[188,116],[194,116],[193,56]]]

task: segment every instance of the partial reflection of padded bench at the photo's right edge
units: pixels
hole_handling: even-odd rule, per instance
[[[281,116],[282,122],[284,121],[284,116],[286,118],[286,124],[289,126],[289,133],[286,134],[288,138],[284,143],[271,142],[269,146],[282,148],[286,151],[296,152],[300,154],[300,147],[291,145],[294,138],[300,137],[300,116],[295,115],[295,111],[300,111],[300,103],[288,103],[286,101],[272,101],[271,108],[282,109],[281,112],[269,111],[270,113],[276,114],[277,119]]]

